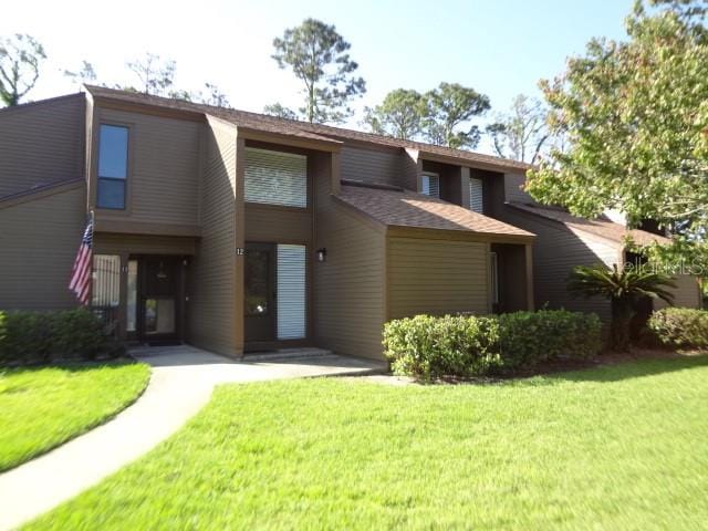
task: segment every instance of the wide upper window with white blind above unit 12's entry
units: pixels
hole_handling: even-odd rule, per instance
[[[308,206],[308,157],[246,148],[246,200],[287,207]]]

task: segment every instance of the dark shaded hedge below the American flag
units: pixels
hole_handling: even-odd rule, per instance
[[[94,360],[119,352],[87,310],[0,312],[0,364]]]

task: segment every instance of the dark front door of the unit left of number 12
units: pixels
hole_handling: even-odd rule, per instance
[[[179,337],[180,260],[144,257],[140,263],[140,336],[148,343]]]

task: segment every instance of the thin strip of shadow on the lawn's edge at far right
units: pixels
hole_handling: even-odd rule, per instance
[[[708,366],[708,354],[675,356],[664,358],[637,358],[616,364],[601,365],[596,368],[572,371],[568,373],[548,374],[539,377],[539,382],[549,384],[565,382],[620,382],[657,374],[675,373],[696,367]],[[537,378],[534,378],[537,379]]]

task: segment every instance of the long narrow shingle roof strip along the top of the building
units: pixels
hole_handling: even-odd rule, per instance
[[[105,97],[118,100],[127,103],[136,103],[142,105],[152,105],[163,108],[173,108],[176,111],[211,114],[222,119],[229,121],[237,125],[252,127],[258,131],[279,133],[294,136],[320,135],[330,139],[343,139],[364,142],[369,144],[378,144],[389,147],[418,149],[424,154],[433,154],[444,157],[451,157],[468,162],[469,164],[483,164],[494,166],[500,169],[524,171],[531,166],[518,160],[510,160],[481,153],[473,153],[464,149],[452,149],[450,147],[435,146],[423,142],[402,140],[389,136],[376,135],[374,133],[364,133],[361,131],[346,129],[343,127],[333,127],[330,125],[311,124],[309,122],[300,122],[296,119],[279,118],[266,114],[250,113],[247,111],[238,111],[235,108],[216,107],[200,103],[187,102],[184,100],[174,100],[168,97],[153,96],[135,92],[118,91],[115,88],[106,88],[103,86],[84,85],[90,94],[96,97]],[[303,135],[304,134],[304,135]]]

